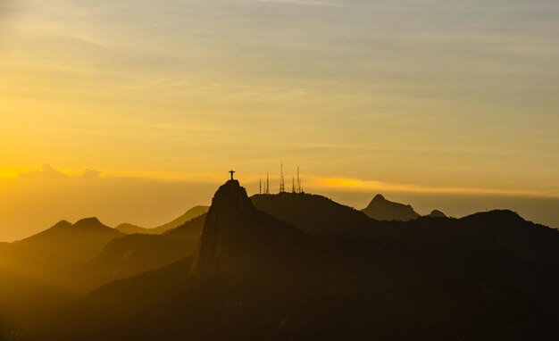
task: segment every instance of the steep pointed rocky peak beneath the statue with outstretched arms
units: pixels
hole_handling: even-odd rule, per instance
[[[213,196],[191,274],[207,277],[278,265],[302,239],[296,228],[258,211],[245,188],[229,180]]]

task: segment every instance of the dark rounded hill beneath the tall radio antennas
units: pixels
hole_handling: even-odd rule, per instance
[[[253,195],[254,206],[312,236],[335,236],[349,229],[366,229],[371,219],[363,212],[322,195],[280,193]]]

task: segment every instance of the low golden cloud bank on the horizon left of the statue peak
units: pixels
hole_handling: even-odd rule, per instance
[[[192,206],[209,204],[218,185],[98,170],[63,172],[49,165],[0,184],[0,241],[91,216],[113,227],[122,222],[154,227]]]

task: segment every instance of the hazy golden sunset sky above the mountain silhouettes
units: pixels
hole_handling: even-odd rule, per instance
[[[280,162],[358,208],[559,227],[557,18],[555,0],[0,0],[0,241],[82,214],[158,225]]]

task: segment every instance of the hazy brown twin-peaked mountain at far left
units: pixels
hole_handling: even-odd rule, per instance
[[[105,226],[96,218],[87,218],[71,224],[62,220],[50,229],[13,243],[21,249],[46,252],[77,261],[95,257],[114,237],[123,234]]]

